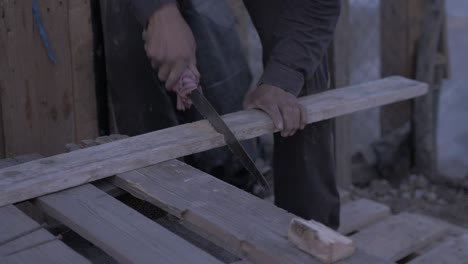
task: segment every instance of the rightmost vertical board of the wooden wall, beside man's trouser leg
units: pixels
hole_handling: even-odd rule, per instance
[[[79,142],[98,135],[91,0],[68,1],[68,5],[75,142]]]

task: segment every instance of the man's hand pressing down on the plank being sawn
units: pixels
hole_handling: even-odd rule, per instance
[[[307,113],[292,94],[273,85],[262,84],[244,100],[246,109],[265,111],[272,119],[281,136],[288,137],[307,125]]]

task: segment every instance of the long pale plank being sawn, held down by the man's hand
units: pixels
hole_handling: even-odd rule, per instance
[[[308,123],[420,96],[426,84],[391,77],[301,98]],[[241,111],[225,122],[242,139],[274,131],[267,114]],[[166,160],[225,145],[203,120],[0,170],[0,206],[75,187]]]

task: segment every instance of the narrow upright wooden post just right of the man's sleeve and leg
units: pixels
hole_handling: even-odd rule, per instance
[[[341,16],[331,52],[331,75],[336,88],[349,83],[349,0],[341,1]],[[337,183],[341,187],[351,185],[351,129],[350,115],[335,119],[335,158]]]

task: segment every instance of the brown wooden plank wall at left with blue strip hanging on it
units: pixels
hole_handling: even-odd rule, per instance
[[[0,1],[0,155],[52,155],[97,135],[90,1],[37,1],[56,65],[31,1]]]

